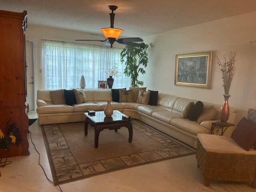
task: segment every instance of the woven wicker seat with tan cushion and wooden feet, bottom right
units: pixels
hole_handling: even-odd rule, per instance
[[[230,137],[198,134],[196,160],[205,186],[218,180],[252,182],[256,188],[256,150],[246,151]]]

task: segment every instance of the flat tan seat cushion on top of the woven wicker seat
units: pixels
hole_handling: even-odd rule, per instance
[[[197,137],[198,140],[201,142],[202,146],[208,152],[256,155],[256,150],[252,148],[250,149],[250,151],[244,150],[231,137],[210,134],[198,134]]]

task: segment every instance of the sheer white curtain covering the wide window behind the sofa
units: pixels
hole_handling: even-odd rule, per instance
[[[121,76],[113,77],[113,88],[128,88],[130,79],[123,74],[121,51],[106,46],[42,40],[42,86],[50,90],[77,88],[84,75],[86,88],[98,88],[98,80],[106,80],[106,70],[116,64]]]

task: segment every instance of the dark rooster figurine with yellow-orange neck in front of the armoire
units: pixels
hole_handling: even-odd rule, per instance
[[[11,124],[10,127],[7,128],[8,123],[10,122],[11,119],[12,118],[10,118],[6,123],[7,136],[5,136],[4,133],[0,130],[0,148],[1,149],[9,150],[9,147],[11,144],[15,144],[16,146],[18,146],[22,141],[20,130],[16,123]]]

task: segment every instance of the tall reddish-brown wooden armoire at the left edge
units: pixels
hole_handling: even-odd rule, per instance
[[[29,155],[28,104],[26,94],[25,30],[27,12],[0,10],[0,129],[7,135],[6,122],[16,123],[22,143],[0,149],[0,158]]]

